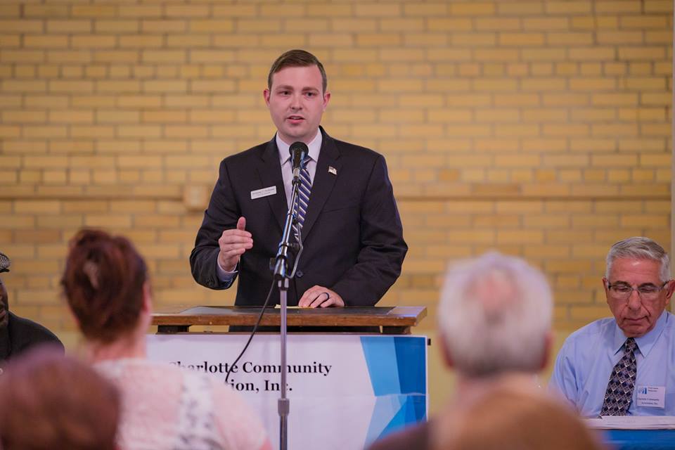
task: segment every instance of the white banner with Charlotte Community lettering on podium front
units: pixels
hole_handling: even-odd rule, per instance
[[[148,335],[148,358],[226,373],[248,335]],[[290,334],[286,356],[289,449],[363,449],[427,416],[425,336]],[[228,384],[249,401],[278,448],[279,335],[256,335]]]

